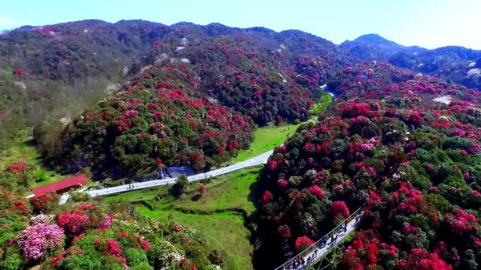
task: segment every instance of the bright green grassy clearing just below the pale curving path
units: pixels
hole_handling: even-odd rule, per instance
[[[200,198],[200,183],[194,182],[183,198],[172,197],[172,186],[163,186],[107,196],[103,203],[134,203],[136,212],[143,215],[196,229],[205,235],[209,248],[226,252],[224,269],[249,270],[253,269],[253,248],[243,212],[250,215],[255,211],[259,170],[262,166],[205,181],[207,191]]]

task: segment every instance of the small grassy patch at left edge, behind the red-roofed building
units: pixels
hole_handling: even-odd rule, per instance
[[[36,178],[32,182],[33,187],[38,187],[51,182],[62,180],[70,175],[60,175],[53,170],[48,170],[41,165],[41,155],[33,146],[32,128],[25,128],[11,136],[11,140],[0,148],[0,170],[15,161],[23,161],[33,168],[33,175]]]

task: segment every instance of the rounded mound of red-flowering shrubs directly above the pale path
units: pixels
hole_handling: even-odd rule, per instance
[[[249,146],[252,120],[203,98],[198,85],[187,65],[148,69],[64,126],[52,158],[62,156],[65,170],[119,165],[127,173],[222,163]]]

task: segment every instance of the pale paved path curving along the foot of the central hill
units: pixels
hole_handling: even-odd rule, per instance
[[[224,175],[226,173],[231,173],[236,170],[241,170],[243,168],[248,168],[252,166],[257,166],[259,164],[265,164],[267,163],[267,159],[271,154],[273,153],[274,150],[270,150],[265,152],[264,154],[260,154],[259,156],[255,156],[253,158],[249,158],[246,161],[242,161],[236,164],[233,164],[231,166],[227,166],[224,168],[219,168],[216,170],[211,170],[207,173],[199,173],[197,175],[191,175],[188,178],[189,182],[194,182],[194,181],[199,181],[199,180],[204,180],[210,177],[215,177],[218,175]],[[92,197],[97,197],[97,196],[104,196],[104,195],[109,195],[109,194],[115,194],[115,193],[120,193],[124,191],[131,191],[131,190],[136,190],[136,189],[145,189],[147,187],[157,187],[157,186],[162,186],[165,184],[173,184],[177,178],[164,178],[160,180],[150,180],[146,182],[136,182],[134,183],[134,188],[130,188],[129,184],[123,184],[122,186],[117,186],[117,187],[108,187],[106,189],[96,189],[96,190],[90,190],[90,191],[85,191],[86,194],[89,194]],[[68,198],[70,197],[69,194],[63,194],[60,197],[60,204],[66,203]]]

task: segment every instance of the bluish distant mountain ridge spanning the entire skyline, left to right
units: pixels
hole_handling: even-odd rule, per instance
[[[340,62],[346,62],[350,56],[358,60],[386,61],[413,72],[444,76],[469,88],[481,89],[481,50],[461,46],[432,50],[403,46],[378,34],[364,34],[336,46],[300,30],[275,32],[265,27],[243,29],[220,23],[177,22],[167,26],[145,20],[115,23],[82,20],[41,27],[26,25],[0,35],[0,57],[6,60],[4,65],[13,69],[26,69],[34,76],[72,83],[75,79],[99,73],[118,73],[125,66],[129,66],[129,72],[134,74],[153,62],[150,50],[154,41],[179,36],[190,39],[206,36],[251,39],[257,36],[255,40],[274,50],[281,41],[289,39],[295,42],[295,46],[290,47],[293,54],[309,53],[323,58],[330,55],[328,58],[332,61]],[[314,46],[307,48],[307,44]]]

